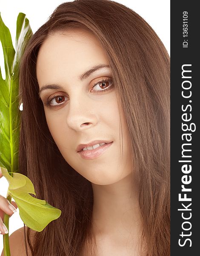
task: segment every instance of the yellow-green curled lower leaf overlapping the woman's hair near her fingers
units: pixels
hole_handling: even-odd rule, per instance
[[[3,176],[9,182],[8,193],[14,198],[20,210],[22,221],[32,230],[42,231],[51,221],[61,215],[61,210],[52,207],[45,200],[40,200],[29,195],[35,194],[31,180],[20,173],[13,173],[13,177],[5,168],[1,168]]]

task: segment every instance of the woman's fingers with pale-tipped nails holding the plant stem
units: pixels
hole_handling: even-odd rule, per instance
[[[0,178],[1,177],[3,177],[3,174],[0,168]],[[10,204],[6,198],[0,195],[0,234],[4,235],[8,233],[8,230],[3,223],[4,212],[11,216],[14,212],[16,212],[16,208],[17,208],[17,204],[14,201],[11,201],[11,204]]]

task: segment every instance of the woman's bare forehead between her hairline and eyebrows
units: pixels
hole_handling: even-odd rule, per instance
[[[37,56],[39,81],[57,77],[66,80],[66,75],[69,80],[78,79],[88,67],[109,65],[104,49],[93,35],[82,37],[79,32],[71,33],[73,37],[60,33],[51,35],[40,47]]]

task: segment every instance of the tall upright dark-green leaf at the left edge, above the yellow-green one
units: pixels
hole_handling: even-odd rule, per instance
[[[17,17],[16,52],[9,29],[0,16],[0,41],[3,47],[6,79],[0,71],[0,166],[9,172],[18,172],[19,152],[19,64],[32,31],[26,15]]]

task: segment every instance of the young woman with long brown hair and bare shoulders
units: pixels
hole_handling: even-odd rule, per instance
[[[27,255],[169,256],[169,55],[146,21],[61,4],[26,47],[20,100],[20,172],[62,211],[24,226]]]

